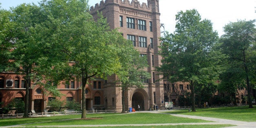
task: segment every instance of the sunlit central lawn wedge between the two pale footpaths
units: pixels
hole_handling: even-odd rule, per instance
[[[77,117],[79,118],[79,117]],[[101,116],[94,117],[98,119],[73,119],[68,121],[51,121],[46,123],[35,123],[27,126],[34,125],[100,125],[100,124],[166,124],[166,123],[203,123],[211,122],[200,119],[189,119],[182,117],[174,117],[168,114],[154,114],[154,113],[132,113],[132,114],[121,114],[114,116]]]

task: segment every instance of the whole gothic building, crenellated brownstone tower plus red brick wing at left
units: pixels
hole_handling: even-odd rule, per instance
[[[163,81],[157,81],[161,76],[154,71],[154,66],[161,64],[159,51],[160,37],[160,13],[159,0],[148,0],[148,3],[140,4],[137,0],[102,0],[95,7],[90,8],[91,14],[97,19],[97,11],[102,12],[111,29],[120,28],[124,38],[131,40],[141,56],[148,57],[148,72],[151,79],[145,80],[145,88],[130,88],[126,91],[127,108],[140,105],[141,110],[148,110],[154,104],[164,106]],[[95,78],[86,85],[86,109],[121,111],[121,88],[117,86],[115,75],[107,80]],[[73,80],[57,86],[62,97],[60,100],[75,100],[82,102],[81,82]],[[49,82],[54,85],[54,83]],[[24,75],[10,72],[0,73],[0,102],[2,107],[12,99],[23,100],[26,93]],[[52,95],[46,95],[44,88],[31,83],[29,89],[29,110],[35,113],[49,110],[47,102],[54,99]],[[137,107],[135,107],[136,109]]]

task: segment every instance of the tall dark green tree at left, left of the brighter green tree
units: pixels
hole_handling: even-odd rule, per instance
[[[38,84],[44,86],[53,95],[60,95],[55,89],[57,86],[46,84],[47,78],[49,78],[47,76],[56,74],[52,70],[53,65],[60,67],[55,65],[57,63],[54,63],[57,62],[54,59],[57,53],[50,49],[51,43],[49,42],[51,40],[43,40],[50,39],[49,37],[52,36],[50,30],[53,29],[49,29],[51,17],[47,15],[43,6],[37,6],[36,4],[21,4],[18,7],[11,8],[9,17],[13,24],[11,34],[6,38],[11,39],[9,42],[13,44],[9,57],[9,60],[11,60],[9,70],[24,75],[26,81],[24,117],[28,117],[29,88]]]

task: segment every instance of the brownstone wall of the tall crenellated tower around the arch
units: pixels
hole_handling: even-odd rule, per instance
[[[145,88],[129,88],[126,92],[126,104],[127,107],[135,107],[137,104],[132,101],[132,97],[137,97],[138,100],[143,99],[143,106],[145,110],[148,110],[153,104],[157,104],[159,107],[163,106],[163,81],[156,81],[161,76],[156,75],[154,66],[161,64],[161,57],[157,54],[159,51],[159,37],[160,35],[160,13],[158,7],[159,0],[148,0],[148,3],[140,3],[137,0],[102,0],[99,4],[90,7],[90,12],[94,19],[97,20],[97,12],[102,13],[104,18],[107,19],[111,29],[119,28],[119,31],[123,34],[124,38],[127,39],[127,35],[135,35],[136,46],[141,54],[148,56],[149,68],[146,70],[151,73],[154,77],[149,79],[148,83],[145,83]],[[122,17],[123,26],[119,24],[119,16]],[[127,27],[126,18],[133,18],[135,20],[135,29]],[[146,22],[146,31],[139,30],[138,20]],[[152,31],[150,31],[150,22],[152,23]],[[146,37],[146,46],[141,47],[139,45],[139,37]],[[150,45],[150,38],[153,39],[153,45]],[[152,64],[152,55],[154,55],[154,64]],[[121,90],[117,87],[115,80],[117,76],[113,75],[108,77],[108,82],[104,88],[104,99],[108,101],[108,109],[114,108],[112,103],[113,97],[115,97],[115,109],[121,111]],[[154,82],[153,82],[154,79]],[[155,94],[155,97],[154,97]],[[139,96],[137,96],[139,95]],[[154,100],[155,98],[155,100]],[[154,102],[155,101],[155,102]],[[139,103],[138,103],[139,104]]]

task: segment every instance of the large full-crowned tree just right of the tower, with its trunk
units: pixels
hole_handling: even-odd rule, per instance
[[[192,111],[195,110],[196,84],[214,84],[216,73],[211,50],[218,36],[210,20],[202,20],[195,10],[180,11],[176,15],[174,34],[161,38],[162,65],[159,72],[170,82],[189,82],[191,85]]]

